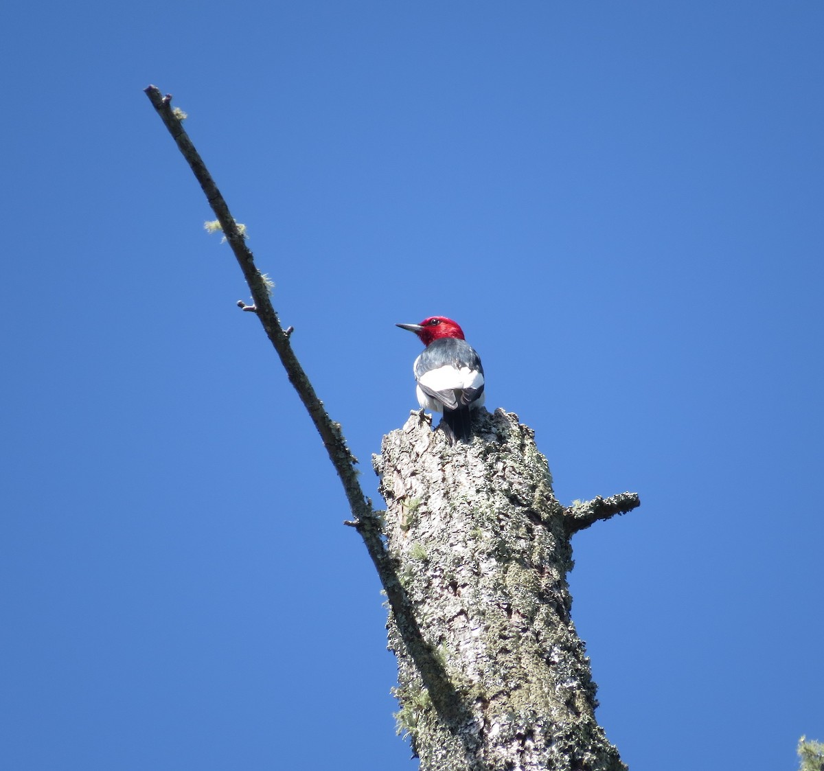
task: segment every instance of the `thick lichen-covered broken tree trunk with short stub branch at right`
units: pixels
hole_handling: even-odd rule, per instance
[[[374,458],[388,551],[440,675],[422,678],[390,613],[399,728],[422,771],[625,769],[595,720],[566,574],[583,518],[637,496],[564,509],[517,415],[480,410],[474,434],[448,446],[413,413]]]

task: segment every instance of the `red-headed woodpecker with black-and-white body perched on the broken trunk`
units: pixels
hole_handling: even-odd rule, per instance
[[[420,338],[426,350],[414,360],[418,403],[443,413],[450,442],[469,442],[470,410],[484,404],[484,367],[463,329],[452,319],[429,316],[420,324],[398,324]]]

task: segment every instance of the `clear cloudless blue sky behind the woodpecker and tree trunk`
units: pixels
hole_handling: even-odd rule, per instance
[[[204,197],[369,459],[443,314],[561,502],[633,771],[824,739],[820,2],[16,3],[4,13],[10,769],[416,769],[377,577]]]

